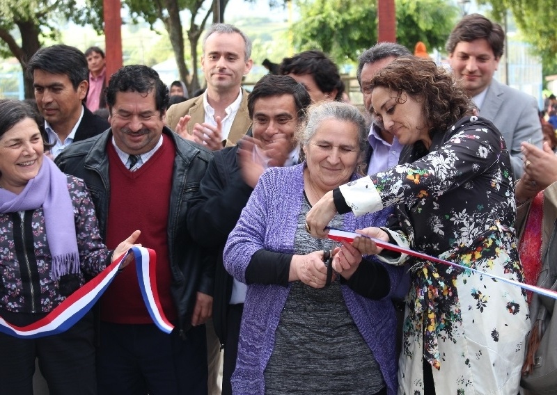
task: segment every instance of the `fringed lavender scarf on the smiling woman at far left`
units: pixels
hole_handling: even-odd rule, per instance
[[[0,188],[0,213],[36,210],[45,214],[47,242],[52,256],[52,280],[79,273],[79,252],[75,236],[74,211],[68,178],[46,155],[37,177],[29,180],[22,193]]]

